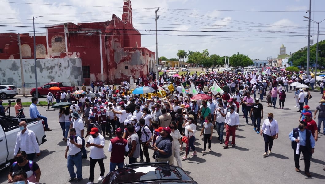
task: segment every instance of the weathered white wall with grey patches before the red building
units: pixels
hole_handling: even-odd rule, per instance
[[[22,62],[25,83],[35,83],[34,59],[23,59]],[[36,68],[38,82],[83,80],[79,58],[37,59]],[[0,60],[0,81],[2,84],[21,83],[19,59]]]

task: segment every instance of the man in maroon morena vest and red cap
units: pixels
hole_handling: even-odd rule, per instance
[[[108,151],[110,154],[110,171],[114,171],[116,165],[118,168],[123,168],[124,165],[124,153],[129,151],[127,146],[127,140],[122,138],[123,131],[121,128],[116,129],[116,137],[110,139]]]

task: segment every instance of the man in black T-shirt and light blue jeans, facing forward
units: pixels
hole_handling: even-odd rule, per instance
[[[261,126],[261,119],[263,119],[263,105],[260,103],[260,99],[256,98],[255,103],[253,103],[251,112],[249,114],[249,117],[252,118],[252,122],[254,125],[254,131],[256,131],[257,134],[260,133],[260,126]],[[257,121],[257,125],[256,125]]]

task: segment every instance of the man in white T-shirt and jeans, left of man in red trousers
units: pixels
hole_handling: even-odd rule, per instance
[[[225,128],[225,120],[226,120],[227,110],[223,108],[223,104],[219,103],[218,108],[215,109],[214,119],[216,122],[216,130],[218,133],[218,140],[220,144],[222,144],[223,130]]]

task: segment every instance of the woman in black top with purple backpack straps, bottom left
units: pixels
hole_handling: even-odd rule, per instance
[[[19,170],[23,170],[27,174],[28,181],[38,184],[41,178],[41,170],[35,162],[27,160],[26,152],[19,151],[15,156],[15,160],[16,162],[9,168],[8,183],[13,183],[13,174]]]

